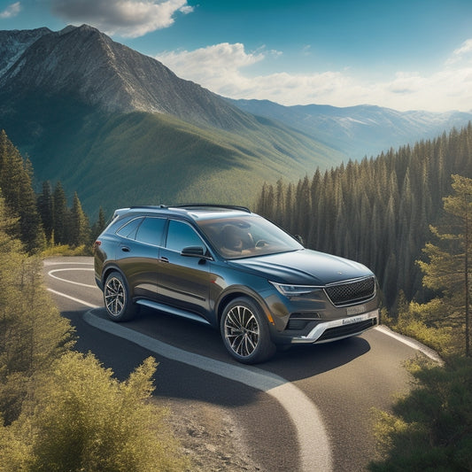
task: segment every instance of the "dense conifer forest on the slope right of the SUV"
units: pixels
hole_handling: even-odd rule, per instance
[[[303,236],[307,247],[358,260],[377,275],[395,311],[400,291],[422,301],[415,263],[433,236],[452,174],[472,176],[472,125],[437,139],[349,161],[297,184],[266,184],[257,211]]]

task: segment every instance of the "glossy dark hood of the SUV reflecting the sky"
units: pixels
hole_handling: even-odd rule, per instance
[[[294,285],[323,286],[373,275],[359,262],[309,249],[256,258],[233,259],[228,261],[228,264],[267,277],[272,282]]]

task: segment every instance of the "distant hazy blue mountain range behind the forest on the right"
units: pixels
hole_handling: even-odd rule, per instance
[[[350,159],[377,156],[382,151],[462,128],[472,112],[398,112],[374,105],[345,108],[309,104],[283,106],[268,100],[231,100],[244,112],[279,120],[343,152]]]

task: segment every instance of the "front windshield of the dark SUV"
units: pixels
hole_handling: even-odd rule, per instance
[[[197,221],[225,259],[298,251],[303,246],[270,221],[257,215]]]

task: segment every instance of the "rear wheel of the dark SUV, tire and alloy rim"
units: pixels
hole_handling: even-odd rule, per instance
[[[112,272],[106,277],[104,307],[112,321],[131,320],[138,312],[138,306],[129,295],[128,283],[120,272]]]

